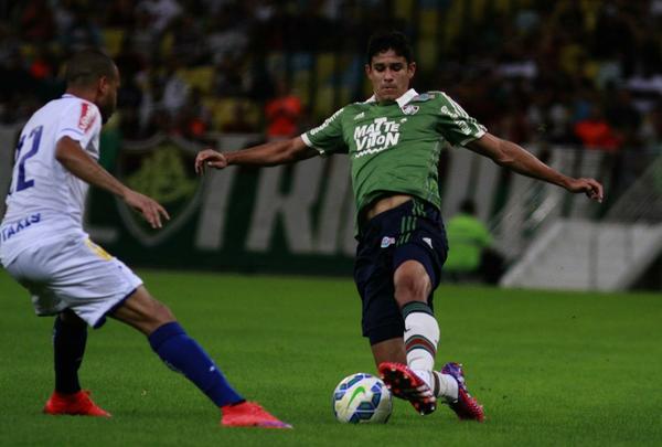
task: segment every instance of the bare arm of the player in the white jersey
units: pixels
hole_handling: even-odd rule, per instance
[[[125,187],[89,157],[77,141],[68,137],[61,138],[55,149],[55,159],[78,179],[122,198],[129,206],[145,216],[152,228],[163,226],[161,217],[170,219],[163,206],[147,195]]]

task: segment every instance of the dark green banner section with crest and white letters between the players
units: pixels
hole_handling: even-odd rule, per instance
[[[241,139],[234,146],[243,146]],[[135,266],[351,274],[355,241],[346,158],[197,177],[193,160],[200,149],[166,136],[124,142],[114,173],[163,204],[171,220],[151,230],[121,200],[93,190],[85,223],[93,240]]]

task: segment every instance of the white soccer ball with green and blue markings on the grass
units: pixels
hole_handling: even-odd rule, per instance
[[[392,406],[386,384],[371,374],[348,375],[333,391],[333,414],[341,423],[385,424]]]

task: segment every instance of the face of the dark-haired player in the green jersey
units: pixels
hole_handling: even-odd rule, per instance
[[[393,50],[375,54],[365,65],[365,74],[373,85],[377,100],[395,100],[409,89],[409,82],[416,72],[416,63],[407,63]]]

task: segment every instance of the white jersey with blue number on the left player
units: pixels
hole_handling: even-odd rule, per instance
[[[7,213],[0,224],[0,262],[66,235],[85,236],[83,207],[88,185],[56,159],[57,141],[68,137],[99,158],[102,115],[97,106],[64,95],[40,108],[21,131]]]

